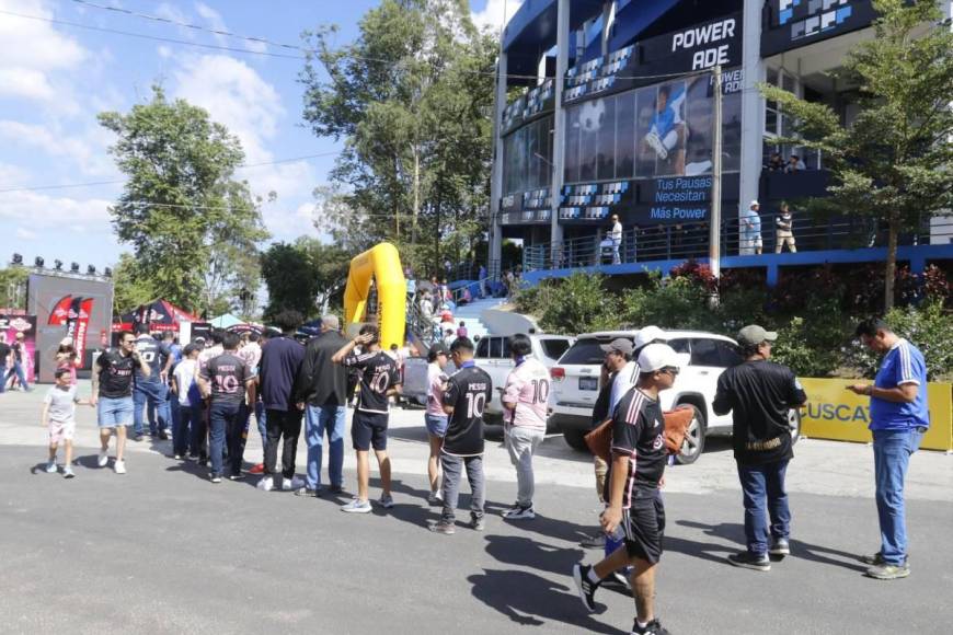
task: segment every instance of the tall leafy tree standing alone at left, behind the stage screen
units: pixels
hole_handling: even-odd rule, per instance
[[[257,243],[267,238],[260,201],[233,178],[244,160],[238,138],[208,113],[160,86],[127,114],[100,113],[118,137],[110,152],[128,181],[110,211],[133,247],[142,288],[197,313],[257,288]]]

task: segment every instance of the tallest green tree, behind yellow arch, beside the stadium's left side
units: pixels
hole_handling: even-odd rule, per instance
[[[315,224],[417,270],[460,261],[486,230],[496,45],[464,0],[383,0],[359,26],[305,34],[305,119],[346,141]]]

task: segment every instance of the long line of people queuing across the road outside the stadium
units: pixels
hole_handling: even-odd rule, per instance
[[[341,510],[371,511],[369,452],[380,471],[378,505],[394,505],[391,466],[387,453],[391,402],[401,392],[400,355],[381,347],[374,324],[360,326],[345,337],[334,315],[321,320],[321,333],[307,343],[295,338],[300,315],[286,311],[275,319],[279,332],[259,337],[214,332],[210,342],[194,342],[179,350],[177,344],[157,340],[145,326],[138,334],[124,332],[118,346],[95,360],[93,391],[88,402],[76,392],[73,358],[57,354],[62,366],[56,384],[44,400],[43,424],[49,429],[47,471],[57,472],[56,452],[66,446],[64,476],[73,477],[70,441],[74,434],[74,406],[89,403],[97,408],[101,431],[99,465],[108,465],[108,443],[116,437],[113,469],[126,472],[126,430],[134,439],[145,432],[143,409],[152,405],[150,432],[169,435],[172,422],[172,457],[209,466],[211,483],[223,476],[241,480],[244,439],[250,415],[255,414],[264,446],[264,490],[295,490],[300,496],[321,496],[344,490],[344,437],[346,407],[357,392],[351,439],[357,455],[357,492]],[[610,460],[596,459],[596,487],[605,510],[600,532],[588,546],[600,545],[605,557],[594,564],[577,564],[572,576],[584,608],[596,610],[595,596],[609,580],[621,580],[635,600],[632,633],[667,633],[655,608],[655,574],[664,551],[666,524],[662,488],[665,467],[671,464],[666,447],[665,413],[659,393],[671,388],[680,368],[679,357],[655,326],[640,331],[633,340],[618,338],[604,346],[600,390],[593,412],[594,428],[610,430]],[[857,336],[883,360],[873,383],[857,383],[850,390],[871,400],[871,429],[875,455],[876,507],[881,549],[861,559],[866,575],[879,579],[910,574],[904,509],[904,482],[910,455],[919,448],[929,427],[926,403],[926,365],[922,354],[895,335],[879,320],[860,324]],[[737,340],[744,361],[727,369],[717,381],[713,409],[732,413],[733,448],[743,490],[746,549],[727,562],[746,569],[768,572],[772,562],[792,553],[792,516],[785,473],[793,458],[788,422],[791,407],[806,403],[807,395],[786,367],[771,361],[777,334],[758,325],[743,328]],[[68,342],[64,347],[68,348]],[[424,424],[429,438],[428,501],[441,508],[433,532],[453,534],[463,474],[472,492],[469,527],[485,529],[485,453],[483,412],[494,386],[490,376],[473,360],[473,342],[457,334],[449,346],[437,340],[427,351],[427,402]],[[517,497],[503,512],[513,521],[531,521],[533,506],[533,455],[546,435],[549,373],[531,356],[528,336],[510,338],[514,369],[505,385],[497,386],[505,408],[504,441],[517,477]],[[453,372],[448,374],[449,363]],[[168,386],[171,417],[161,403]],[[355,385],[356,383],[356,385]],[[142,396],[138,400],[136,394]],[[139,411],[139,412],[137,412]],[[177,414],[175,414],[177,413]],[[307,477],[296,476],[296,451],[306,425]],[[136,428],[136,422],[140,427]],[[596,432],[598,431],[596,430]],[[329,483],[322,482],[323,446],[329,446]],[[277,452],[282,447],[282,463]]]

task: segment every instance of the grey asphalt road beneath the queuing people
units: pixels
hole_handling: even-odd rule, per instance
[[[426,480],[415,467],[420,413],[395,416],[397,507],[354,517],[337,510],[345,498],[262,493],[253,481],[213,485],[204,472],[162,455],[163,443],[138,444],[126,475],[96,469],[93,443],[84,441],[94,432],[91,413],[81,412],[78,477],[46,474],[38,400],[0,397],[2,633],[628,633],[631,626],[634,607],[624,593],[600,590],[595,615],[574,593],[572,565],[599,557],[578,546],[598,507],[592,477],[588,485],[583,480],[588,465],[561,454],[559,437],[547,440],[541,465],[564,465],[567,476],[541,478],[537,520],[500,518],[515,482],[504,477],[504,452],[491,444],[485,533],[460,528],[444,536],[426,529],[437,510],[426,504]],[[846,448],[850,461],[841,463],[850,469],[840,471],[859,482],[863,469],[852,452],[869,449]],[[799,444],[799,461],[822,465],[827,451]],[[914,473],[932,483],[918,485],[920,495],[908,503],[914,573],[884,582],[864,578],[856,561],[877,547],[870,496],[811,487],[791,487],[791,557],[767,574],[728,566],[725,556],[742,549],[739,494],[731,477],[703,475],[722,471],[724,454],[669,471],[680,485],[665,494],[657,613],[666,627],[949,632],[953,458],[915,458]],[[346,477],[353,487],[351,470]],[[684,492],[694,481],[708,484],[697,489],[703,493]]]

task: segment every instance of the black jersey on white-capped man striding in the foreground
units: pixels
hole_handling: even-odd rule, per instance
[[[629,457],[622,495],[622,508],[629,509],[634,487],[658,487],[668,459],[662,406],[636,388],[625,393],[612,414],[612,453]]]

